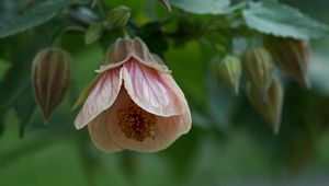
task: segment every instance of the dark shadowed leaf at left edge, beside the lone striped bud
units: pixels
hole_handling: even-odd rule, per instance
[[[47,31],[49,31],[48,27]],[[43,31],[38,30],[38,32]],[[7,111],[13,108],[20,120],[21,137],[36,106],[31,86],[32,61],[39,49],[50,45],[54,32],[56,30],[49,31],[49,35],[44,36],[43,39],[38,39],[37,32],[33,35],[29,34],[29,37],[20,35],[3,45],[8,46],[10,50],[15,50],[19,55],[12,57],[11,67],[0,81],[0,125]],[[23,42],[25,45],[8,45],[9,43],[15,43],[15,39]]]

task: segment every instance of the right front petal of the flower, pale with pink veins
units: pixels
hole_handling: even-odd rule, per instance
[[[170,74],[144,66],[134,58],[123,66],[124,85],[131,98],[143,109],[163,117],[185,112],[180,88],[167,82]]]

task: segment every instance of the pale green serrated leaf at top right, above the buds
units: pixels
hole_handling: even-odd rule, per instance
[[[309,39],[328,33],[327,25],[276,2],[250,2],[242,14],[247,26],[264,34]]]

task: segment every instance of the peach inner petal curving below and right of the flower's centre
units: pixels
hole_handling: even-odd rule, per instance
[[[144,141],[127,138],[118,126],[117,112],[123,105],[133,103],[125,90],[122,90],[113,106],[106,112],[107,129],[113,141],[123,149],[140,152],[157,152],[168,148],[180,136],[186,133],[191,128],[190,112],[171,117],[156,116],[152,137]],[[189,111],[189,108],[188,108]]]

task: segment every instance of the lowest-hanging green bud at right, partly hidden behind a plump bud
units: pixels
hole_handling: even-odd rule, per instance
[[[272,77],[272,82],[266,98],[253,89],[251,84],[247,86],[247,95],[251,105],[268,121],[275,135],[279,133],[281,115],[283,108],[284,88],[276,77]]]

